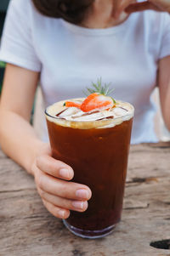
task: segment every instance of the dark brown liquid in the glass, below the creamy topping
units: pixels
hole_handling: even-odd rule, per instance
[[[47,122],[54,158],[73,168],[74,182],[92,190],[88,210],[72,211],[67,223],[80,230],[103,230],[116,225],[122,213],[133,118],[113,128],[92,129]]]

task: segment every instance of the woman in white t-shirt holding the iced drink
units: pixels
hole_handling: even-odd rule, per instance
[[[113,82],[117,99],[136,109],[132,143],[156,142],[155,107],[170,129],[170,18],[166,0],[12,0],[0,57],[7,64],[0,107],[3,151],[34,175],[42,202],[54,216],[88,208],[90,188],[68,182],[74,170],[54,160],[29,124],[40,79],[45,105],[82,96],[90,81]],[[130,14],[133,13],[133,14]],[[61,19],[58,19],[61,18]],[[45,141],[46,138],[43,138]]]

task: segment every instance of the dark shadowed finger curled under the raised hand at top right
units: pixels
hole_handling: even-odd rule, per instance
[[[149,9],[160,11],[160,9],[158,9],[156,7],[156,5],[154,5],[153,3],[149,3],[149,2],[132,3],[129,6],[127,6],[125,11],[127,13],[134,13],[134,12],[139,12],[139,11],[144,11],[144,10],[149,10]]]

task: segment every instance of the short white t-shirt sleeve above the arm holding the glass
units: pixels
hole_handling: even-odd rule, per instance
[[[11,0],[3,28],[0,60],[31,71],[41,71],[31,37],[31,1]]]

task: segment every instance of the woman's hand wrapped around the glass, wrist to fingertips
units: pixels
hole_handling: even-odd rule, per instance
[[[88,186],[68,182],[74,175],[72,168],[55,160],[48,144],[32,164],[31,173],[44,206],[55,217],[67,219],[70,210],[83,212],[88,208],[88,199],[92,195]]]

